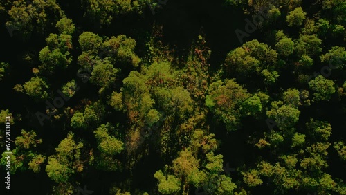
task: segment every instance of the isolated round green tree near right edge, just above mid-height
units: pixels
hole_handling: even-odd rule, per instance
[[[309,81],[309,87],[314,91],[313,101],[330,100],[331,95],[336,92],[335,83],[322,75],[318,75],[314,80]]]

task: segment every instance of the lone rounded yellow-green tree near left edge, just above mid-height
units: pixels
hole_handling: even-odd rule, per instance
[[[23,86],[26,94],[35,100],[48,98],[48,84],[41,77],[31,77],[30,81],[26,82]]]

